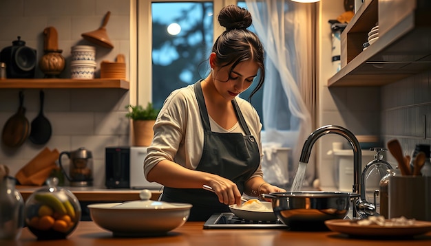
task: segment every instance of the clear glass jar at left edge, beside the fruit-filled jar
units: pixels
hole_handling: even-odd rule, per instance
[[[24,200],[10,176],[0,180],[0,239],[17,239],[24,225]]]

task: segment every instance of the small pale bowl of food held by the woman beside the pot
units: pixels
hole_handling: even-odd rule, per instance
[[[261,201],[266,210],[249,210],[238,207],[236,204],[229,205],[233,214],[247,221],[277,221],[277,216],[273,212],[273,205],[268,201]]]

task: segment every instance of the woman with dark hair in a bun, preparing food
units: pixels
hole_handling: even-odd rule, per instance
[[[209,56],[211,72],[194,85],[177,89],[165,100],[154,139],[144,161],[145,177],[165,186],[161,200],[191,203],[189,221],[206,221],[214,213],[240,205],[243,193],[285,192],[263,179],[259,115],[238,97],[257,72],[264,82],[264,50],[246,30],[251,14],[236,5],[218,16],[226,27]],[[202,189],[207,185],[213,192]]]

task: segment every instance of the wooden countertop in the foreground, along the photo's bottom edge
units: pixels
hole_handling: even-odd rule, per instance
[[[148,238],[114,238],[112,233],[92,221],[81,221],[66,240],[37,241],[23,228],[17,241],[0,240],[0,245],[430,245],[431,232],[403,240],[349,238],[337,232],[293,232],[285,229],[203,229],[202,222],[187,222],[167,236]]]

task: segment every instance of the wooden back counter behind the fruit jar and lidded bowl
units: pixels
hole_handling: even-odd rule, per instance
[[[41,186],[17,186],[17,190],[23,196],[24,201],[40,188]],[[63,188],[70,190],[78,201],[134,201],[140,199],[140,190],[66,186]],[[151,200],[158,200],[160,194],[159,190],[151,190]]]

